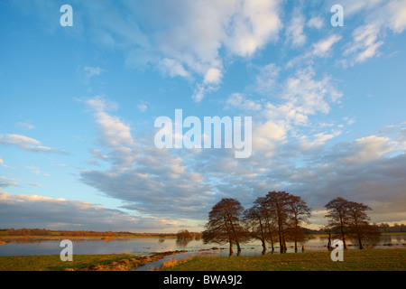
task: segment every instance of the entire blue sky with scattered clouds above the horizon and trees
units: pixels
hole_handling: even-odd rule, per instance
[[[0,228],[200,230],[274,190],[315,228],[337,196],[406,221],[404,0],[6,0],[0,27]],[[177,108],[253,117],[253,154],[157,149]]]

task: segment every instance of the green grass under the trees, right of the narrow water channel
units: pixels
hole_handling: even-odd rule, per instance
[[[164,269],[161,269],[164,270]],[[406,249],[367,249],[344,252],[333,262],[330,252],[265,256],[196,256],[167,271],[404,271]]]

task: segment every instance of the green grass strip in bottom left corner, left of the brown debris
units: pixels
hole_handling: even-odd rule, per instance
[[[74,255],[72,262],[62,262],[59,255],[0,256],[0,271],[60,271],[134,257],[128,254]]]

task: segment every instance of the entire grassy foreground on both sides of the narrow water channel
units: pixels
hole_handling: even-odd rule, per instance
[[[0,256],[0,271],[60,271],[89,267],[96,271],[128,270],[162,256],[127,254],[75,255],[73,262],[59,255]],[[93,267],[91,267],[93,266]],[[333,262],[329,252],[265,256],[195,256],[166,271],[405,271],[406,249],[367,249],[344,252],[344,262]]]

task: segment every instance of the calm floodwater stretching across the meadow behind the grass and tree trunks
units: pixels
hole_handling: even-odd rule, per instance
[[[155,252],[167,252],[175,250],[188,250],[190,253],[199,254],[200,250],[212,252],[217,255],[227,256],[228,245],[203,244],[202,240],[189,240],[180,242],[175,238],[69,238],[73,242],[73,255],[97,255],[97,254],[134,254],[148,255]],[[11,242],[0,245],[0,256],[30,256],[30,255],[60,255],[63,247],[60,247],[61,239],[50,240],[49,238],[36,238],[23,242]],[[328,238],[311,238],[303,244],[299,244],[299,252],[304,245],[305,251],[327,250]],[[347,241],[349,249],[357,249],[356,244]],[[270,244],[267,244],[271,247]],[[288,243],[288,253],[294,252],[294,244]],[[260,241],[253,241],[241,246],[241,255],[260,255],[263,247]],[[376,248],[406,248],[406,235],[383,235],[375,245],[368,247]],[[236,247],[234,247],[236,254]],[[279,247],[275,244],[275,253]],[[271,253],[268,248],[267,253]]]

